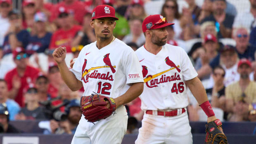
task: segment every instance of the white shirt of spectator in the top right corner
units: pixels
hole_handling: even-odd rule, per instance
[[[251,30],[256,26],[256,0],[249,0],[251,3],[251,9],[247,9],[245,12],[238,14],[235,17],[233,28],[245,27]]]

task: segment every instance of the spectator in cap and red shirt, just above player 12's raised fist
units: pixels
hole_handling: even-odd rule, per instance
[[[83,17],[81,17],[83,19]],[[60,29],[52,35],[50,49],[55,49],[59,46],[66,47],[66,51],[71,52],[71,41],[76,33],[81,30],[81,26],[72,24],[72,16],[64,7],[59,7],[57,22]]]

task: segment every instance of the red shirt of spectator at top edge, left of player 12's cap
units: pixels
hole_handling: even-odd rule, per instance
[[[67,12],[73,15],[74,19],[78,22],[78,24],[83,23],[83,14],[85,12],[85,5],[83,2],[78,0],[63,0],[59,2],[52,10],[52,16],[50,21],[55,20],[58,17],[59,9],[64,7],[67,9]]]

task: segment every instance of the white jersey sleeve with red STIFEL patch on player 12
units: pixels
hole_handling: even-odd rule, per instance
[[[123,69],[126,75],[126,84],[144,82],[142,76],[142,67],[135,52],[130,52],[123,63]]]

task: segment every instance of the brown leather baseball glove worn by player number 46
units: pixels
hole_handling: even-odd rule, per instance
[[[222,132],[222,123],[219,119],[205,125],[206,137],[204,144],[228,144],[228,139]]]

